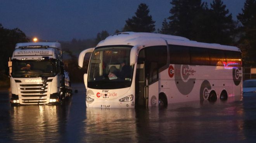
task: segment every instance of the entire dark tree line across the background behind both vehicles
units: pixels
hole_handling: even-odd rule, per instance
[[[126,20],[123,29],[117,29],[114,33],[157,32],[183,36],[199,42],[235,45],[242,50],[244,66],[256,66],[256,0],[246,0],[242,13],[237,15],[238,21],[232,20],[232,14],[223,4],[223,0],[213,0],[209,4],[201,0],[171,0],[170,4],[170,16],[163,20],[160,29],[156,30],[149,7],[141,3],[135,15]],[[109,33],[102,30],[95,39],[61,42],[64,53],[69,56],[69,60],[65,62],[66,68],[71,71],[71,77],[73,75],[76,80],[83,80],[82,76],[77,77],[76,74],[76,71],[86,71],[78,69],[78,54],[85,48],[95,47],[107,36]],[[6,29],[0,24],[0,75],[7,75],[7,62],[12,56],[15,44],[28,41],[20,29]],[[0,80],[1,78],[0,76]]]

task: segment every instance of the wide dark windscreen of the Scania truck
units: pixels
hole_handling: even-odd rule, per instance
[[[12,77],[52,77],[56,75],[57,60],[13,60]]]

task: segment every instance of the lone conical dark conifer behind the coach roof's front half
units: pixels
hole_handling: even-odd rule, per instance
[[[152,16],[149,15],[149,8],[145,3],[140,3],[136,16],[131,19],[126,20],[125,27],[123,31],[133,31],[133,32],[154,32],[155,31],[155,21],[152,20]]]

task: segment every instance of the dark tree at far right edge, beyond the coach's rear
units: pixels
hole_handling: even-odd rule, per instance
[[[242,23],[239,48],[242,50],[244,64],[256,66],[256,0],[246,0],[237,19]]]

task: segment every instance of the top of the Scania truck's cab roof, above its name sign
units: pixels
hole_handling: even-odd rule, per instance
[[[19,47],[30,46],[30,48],[34,48],[33,46],[48,46],[52,48],[56,48],[61,50],[61,44],[59,42],[27,42],[27,43],[17,43],[15,49]],[[35,47],[38,48],[38,47]]]

